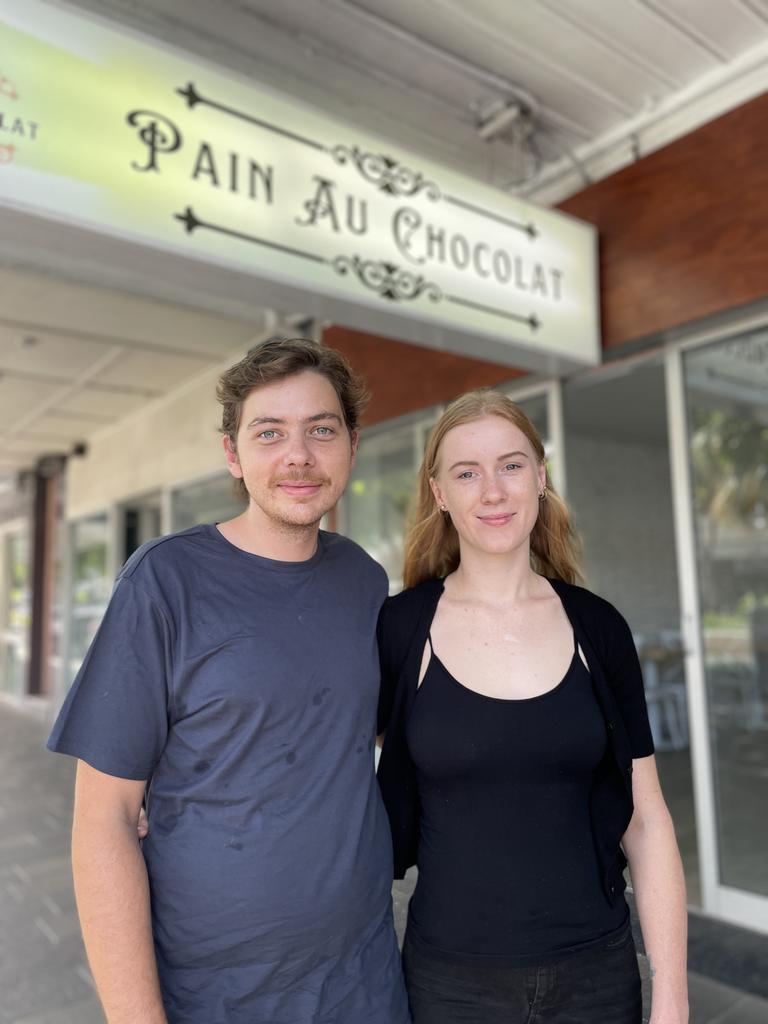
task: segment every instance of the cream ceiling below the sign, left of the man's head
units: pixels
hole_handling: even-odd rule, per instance
[[[0,268],[0,456],[31,466],[71,451],[245,352],[262,316],[248,324]]]

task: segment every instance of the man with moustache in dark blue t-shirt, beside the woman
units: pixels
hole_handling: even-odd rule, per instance
[[[247,508],[128,560],[48,744],[79,759],[96,986],[110,1024],[408,1024],[373,771],[386,577],[319,530],[365,388],[272,340],[218,397]]]

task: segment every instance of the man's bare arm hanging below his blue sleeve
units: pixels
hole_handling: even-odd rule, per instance
[[[72,866],[80,924],[109,1024],[167,1024],[136,836],[144,782],[78,762]]]

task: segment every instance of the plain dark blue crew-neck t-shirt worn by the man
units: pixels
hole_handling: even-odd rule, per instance
[[[147,780],[171,1024],[406,1024],[374,776],[386,577],[321,532],[280,562],[212,525],[126,563],[48,741]]]

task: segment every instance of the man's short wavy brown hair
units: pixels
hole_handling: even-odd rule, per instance
[[[219,378],[216,397],[221,402],[221,433],[229,438],[232,451],[238,449],[243,403],[254,388],[273,384],[311,370],[325,377],[339,398],[344,423],[351,433],[370,397],[366,382],[335,348],[321,345],[307,338],[270,338],[254,347],[240,362],[229,367]],[[237,481],[241,498],[248,500],[243,480]]]

